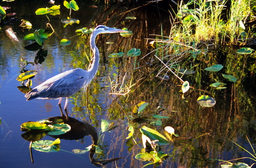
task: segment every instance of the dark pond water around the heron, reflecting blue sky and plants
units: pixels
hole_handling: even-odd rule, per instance
[[[56,2],[56,4],[58,3]],[[186,102],[181,99],[180,86],[173,85],[180,84],[175,77],[173,77],[174,80],[162,82],[155,77],[157,74],[155,69],[159,64],[149,66],[149,63],[145,63],[155,60],[154,55],[151,55],[151,58],[146,61],[145,59],[141,60],[140,65],[136,64],[138,60],[135,58],[107,57],[113,52],[127,52],[133,47],[140,48],[142,55],[152,51],[145,47],[144,38],[149,38],[149,34],[152,33],[160,33],[161,24],[163,32],[167,32],[168,35],[166,12],[162,11],[160,16],[155,15],[152,13],[155,5],[125,13],[132,8],[119,4],[111,5],[108,8],[107,5],[86,1],[77,1],[77,4],[79,4],[80,10],[72,11],[71,15],[73,18],[79,19],[80,24],[74,24],[64,29],[60,19],[66,18],[69,15],[69,10],[62,6],[61,16],[51,16],[51,24],[57,35],[52,35],[44,42],[43,48],[48,50],[48,56],[42,64],[28,65],[26,69],[38,71],[33,79],[33,87],[68,69],[88,67],[86,55],[90,55],[90,49],[87,37],[71,38],[72,43],[69,46],[59,45],[60,38],[73,37],[76,35],[74,32],[76,29],[93,27],[92,24],[96,23],[118,28],[129,27],[129,30],[132,30],[133,36],[128,38],[119,37],[119,35],[99,36],[97,43],[101,52],[99,71],[88,87],[88,91],[81,90],[69,101],[69,116],[78,121],[87,121],[96,129],[97,133],[101,131],[102,119],[118,125],[114,130],[101,136],[98,145],[102,152],[96,153],[94,158],[98,160],[121,158],[106,164],[106,167],[143,167],[146,162],[135,159],[135,155],[140,153],[143,148],[139,131],[143,125],[154,128],[163,135],[163,128],[171,126],[179,135],[174,142],[162,147],[162,151],[168,153],[169,157],[161,167],[219,167],[221,162],[216,159],[229,160],[250,156],[230,139],[252,152],[246,136],[254,146],[256,137],[255,91],[252,88],[255,86],[255,75],[244,77],[236,84],[228,83],[228,88],[223,91],[211,89],[210,93],[213,94],[217,102],[215,107],[200,107],[196,103],[196,99],[201,93],[195,91],[186,97]],[[24,35],[34,32],[35,29],[45,29],[48,22],[45,16],[37,16],[34,12],[40,7],[51,5],[44,1],[2,2],[0,5],[12,7],[7,10],[7,13],[17,13],[16,19],[6,18],[2,21],[2,32],[0,32],[0,167],[95,167],[91,163],[88,152],[83,155],[72,152],[73,149],[84,150],[93,143],[91,136],[88,135],[77,140],[61,139],[59,152],[44,153],[32,150],[34,163],[31,163],[30,142],[22,138],[21,135],[24,132],[20,130],[20,125],[27,121],[60,116],[60,111],[57,106],[58,100],[27,102],[24,94],[17,88],[21,83],[16,80],[16,77],[20,74],[23,66],[20,59],[34,61],[37,54],[37,51],[24,49],[24,46],[30,43],[23,40]],[[98,5],[98,8],[91,8],[89,5]],[[136,16],[137,19],[126,21],[124,17],[129,15]],[[21,19],[29,20],[33,24],[32,29],[27,31],[18,27]],[[12,27],[20,41],[13,41],[7,37],[4,32],[7,27]],[[107,45],[105,44],[107,41],[114,42],[114,44]],[[230,65],[235,61],[234,57],[231,55],[225,58],[223,65],[235,67],[236,74],[246,71],[240,70],[236,64]],[[197,86],[197,83],[200,83],[198,80],[210,82],[203,72],[198,73],[202,79],[190,76],[183,77],[183,80],[190,80],[191,85]],[[110,94],[116,93],[116,90],[111,87],[113,81],[117,80],[118,83],[121,83],[125,76],[125,83],[129,83],[130,80],[132,83],[137,83],[134,86],[135,91],[129,96]],[[201,89],[205,89],[204,86],[201,86]],[[151,121],[142,124],[129,122],[123,111],[131,115],[132,109],[141,101],[149,103],[146,113],[143,113],[142,116],[150,116],[157,111],[157,107],[161,107],[163,111],[160,114],[170,118],[162,119],[162,125],[158,126],[152,124]],[[135,128],[134,138],[138,142],[138,145],[134,144],[133,147],[127,145],[126,137],[129,134],[129,125],[133,125]],[[92,132],[95,134],[94,131]],[[43,140],[54,141],[55,138],[45,136]],[[254,163],[250,159],[240,161],[249,165]]]

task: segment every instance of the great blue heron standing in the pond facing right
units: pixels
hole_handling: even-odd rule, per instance
[[[62,97],[66,97],[64,110],[66,113],[66,119],[68,119],[67,107],[69,96],[72,96],[73,94],[77,93],[79,89],[87,86],[98,71],[99,49],[95,44],[96,36],[100,33],[126,32],[126,30],[110,28],[102,25],[95,27],[90,37],[90,46],[94,57],[88,71],[81,68],[76,68],[55,75],[26,93],[25,97],[27,98],[27,101],[32,99],[60,99],[58,105],[63,116],[64,114],[62,112],[61,103]]]

